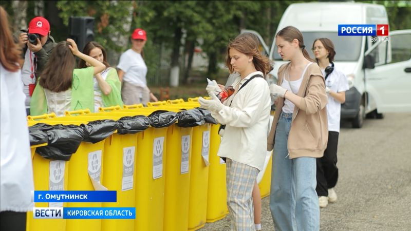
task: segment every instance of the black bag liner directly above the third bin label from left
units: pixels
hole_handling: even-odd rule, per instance
[[[135,134],[144,131],[150,126],[150,119],[145,115],[122,117],[117,121],[118,134]]]

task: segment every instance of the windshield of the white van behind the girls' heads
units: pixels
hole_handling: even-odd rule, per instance
[[[358,61],[361,51],[362,36],[338,36],[337,32],[302,32],[304,36],[304,44],[310,56],[314,54],[311,51],[312,43],[315,38],[329,38],[335,47],[335,61]],[[274,46],[274,60],[282,60],[277,53],[277,46]]]

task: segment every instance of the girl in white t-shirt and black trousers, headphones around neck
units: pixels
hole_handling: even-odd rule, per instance
[[[328,142],[324,156],[317,158],[317,186],[320,207],[337,201],[334,187],[338,180],[337,146],[340,132],[341,104],[345,102],[345,91],[349,89],[346,76],[334,67],[334,44],[328,38],[317,38],[312,51],[325,77],[325,91],[328,95]]]

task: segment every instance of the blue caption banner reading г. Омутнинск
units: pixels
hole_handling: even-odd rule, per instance
[[[34,202],[117,202],[117,191],[34,191]]]

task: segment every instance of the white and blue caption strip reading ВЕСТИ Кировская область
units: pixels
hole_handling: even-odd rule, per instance
[[[135,207],[34,207],[34,219],[136,219]]]

